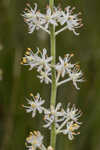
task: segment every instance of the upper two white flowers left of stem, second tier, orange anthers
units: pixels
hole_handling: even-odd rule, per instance
[[[35,67],[38,72],[42,71],[42,69],[50,71],[51,67],[49,63],[51,60],[52,56],[47,56],[47,50],[45,48],[43,49],[43,53],[38,49],[35,54],[28,48],[23,57],[22,64],[30,66],[30,70]]]

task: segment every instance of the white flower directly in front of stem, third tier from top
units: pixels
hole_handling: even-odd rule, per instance
[[[44,110],[44,113],[44,120],[46,122],[44,125],[45,128],[49,127],[49,129],[51,129],[52,123],[55,123],[56,128],[58,128],[58,123],[63,121],[63,110],[61,110],[61,103],[58,103],[55,109],[53,106],[51,106],[50,110]]]

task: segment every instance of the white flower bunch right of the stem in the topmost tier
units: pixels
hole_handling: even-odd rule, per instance
[[[67,28],[69,30],[73,31],[75,35],[79,35],[79,33],[75,31],[75,29],[80,28],[82,26],[81,19],[78,18],[80,13],[73,14],[74,9],[75,9],[74,7],[72,9],[70,6],[66,7],[65,12],[64,11],[61,12],[62,16],[59,18],[59,22],[61,25],[64,25],[66,23]]]

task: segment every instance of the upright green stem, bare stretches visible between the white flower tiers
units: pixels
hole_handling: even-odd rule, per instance
[[[53,6],[54,6],[54,0],[49,1],[50,8],[53,11]],[[50,40],[51,40],[51,56],[53,56],[52,59],[52,65],[55,65],[56,61],[56,39],[55,39],[55,27],[54,25],[51,25],[50,27]],[[53,68],[52,69],[52,89],[51,89],[51,103],[50,105],[55,108],[56,104],[56,71]],[[52,124],[51,127],[51,139],[50,139],[50,145],[53,147],[53,150],[55,150],[55,145],[56,145],[56,128],[55,124]]]

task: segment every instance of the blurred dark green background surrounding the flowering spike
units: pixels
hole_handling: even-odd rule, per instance
[[[82,12],[84,27],[80,36],[65,31],[57,36],[57,60],[66,53],[74,53],[74,62],[80,62],[86,82],[77,91],[72,83],[58,89],[57,102],[63,105],[75,103],[83,116],[81,134],[69,141],[59,135],[57,150],[100,150],[100,1],[55,0],[64,8],[76,6]],[[50,86],[40,84],[36,71],[20,65],[27,47],[47,48],[50,54],[49,37],[43,31],[27,33],[21,13],[29,2],[45,11],[47,0],[0,0],[0,150],[25,149],[25,138],[32,129],[40,129],[44,143],[49,144],[49,132],[43,129],[39,115],[35,119],[21,107],[30,92],[40,92],[49,106]]]

